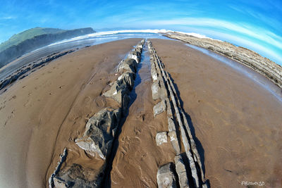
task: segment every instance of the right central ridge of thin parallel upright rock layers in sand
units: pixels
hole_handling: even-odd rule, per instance
[[[206,187],[206,180],[204,179],[204,173],[202,170],[202,163],[200,155],[197,151],[197,147],[192,137],[188,120],[186,119],[185,113],[180,106],[180,99],[176,93],[173,82],[171,81],[170,75],[164,70],[164,64],[161,63],[159,57],[149,42],[149,51],[151,54],[151,74],[152,74],[152,97],[153,99],[161,99],[154,106],[154,116],[159,113],[166,111],[168,119],[168,136],[171,139],[173,149],[176,151],[176,162],[178,164],[178,180],[180,187]],[[157,94],[153,91],[153,86],[158,84],[160,89]],[[176,127],[178,126],[178,128]],[[180,130],[180,135],[177,134],[177,130]],[[186,134],[188,133],[188,135]],[[180,158],[180,142],[178,138],[183,142],[185,149],[185,156],[188,158],[188,165],[185,169],[189,169],[189,172],[184,172],[184,168],[180,169],[180,162],[183,163],[183,158]],[[183,166],[182,166],[183,167]],[[185,177],[183,177],[185,175]],[[188,181],[191,182],[188,182]]]

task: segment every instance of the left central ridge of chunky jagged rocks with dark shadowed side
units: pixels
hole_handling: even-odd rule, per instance
[[[116,130],[120,120],[128,110],[130,92],[134,87],[137,73],[137,63],[140,62],[142,47],[145,44],[143,39],[130,51],[128,56],[118,64],[118,79],[111,83],[111,88],[104,92],[104,96],[114,99],[120,105],[119,108],[111,106],[95,113],[87,121],[85,132],[81,138],[75,139],[75,144],[85,151],[87,155],[94,158],[101,158],[103,165],[99,169],[84,168],[82,165],[73,163],[63,166],[67,160],[67,150],[61,155],[61,160],[49,178],[49,187],[101,187],[106,169],[107,159],[111,153],[112,144],[116,137]],[[62,168],[63,166],[63,168]],[[95,171],[95,173],[94,173]],[[97,173],[98,172],[98,173]],[[94,175],[93,174],[97,174]]]

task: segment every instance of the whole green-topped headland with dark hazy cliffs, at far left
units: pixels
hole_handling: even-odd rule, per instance
[[[76,30],[35,27],[20,32],[17,35],[13,35],[8,41],[0,44],[0,68],[15,60],[18,56],[22,56],[42,46],[93,32],[95,31],[91,27]]]

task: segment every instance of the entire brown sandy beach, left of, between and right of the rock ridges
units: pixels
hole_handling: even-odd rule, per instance
[[[64,165],[101,168],[101,159],[78,149],[74,140],[95,113],[118,106],[102,93],[117,79],[118,63],[140,40],[124,39],[67,54],[0,95],[1,186],[48,187],[64,148],[69,151]],[[150,41],[190,117],[211,187],[240,187],[242,181],[281,187],[281,101],[184,42]],[[165,114],[154,118],[149,69],[149,60],[143,60],[137,73],[140,82],[135,81],[132,104],[114,142],[106,187],[157,187],[159,166],[176,156],[169,140],[161,146],[155,141],[157,132],[168,131],[168,126]]]

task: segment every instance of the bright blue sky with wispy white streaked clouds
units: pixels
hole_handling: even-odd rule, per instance
[[[0,42],[32,27],[196,32],[282,65],[282,0],[0,0]]]

